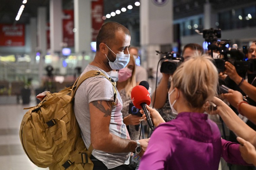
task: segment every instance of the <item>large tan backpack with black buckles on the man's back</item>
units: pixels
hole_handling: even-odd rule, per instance
[[[47,92],[43,100],[23,117],[20,139],[31,162],[50,170],[92,170],[91,154],[87,150],[75,118],[73,99],[81,83],[87,78],[105,76],[99,71],[89,71],[79,77],[69,88],[58,93]],[[116,82],[106,77],[113,86]],[[79,81],[78,81],[79,79]],[[68,95],[68,93],[71,93]],[[114,99],[117,91],[114,87]]]

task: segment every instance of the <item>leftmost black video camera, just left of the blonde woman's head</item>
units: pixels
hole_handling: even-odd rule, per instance
[[[160,67],[160,72],[165,74],[173,74],[178,66],[184,61],[184,58],[180,54],[175,52],[159,52],[158,54],[165,54],[161,59],[168,59],[168,61],[163,61]]]

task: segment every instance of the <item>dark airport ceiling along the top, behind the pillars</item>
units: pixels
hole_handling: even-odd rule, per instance
[[[37,16],[37,7],[46,6],[49,11],[50,0],[27,0],[24,11],[20,20],[15,21],[15,17],[22,5],[23,0],[0,0],[0,23],[4,24],[28,24],[30,17]],[[103,0],[104,1],[104,15],[107,13],[127,7],[129,4],[133,5],[136,0]],[[139,0],[138,0],[139,1]],[[243,4],[254,3],[255,0],[173,0],[174,19],[179,19],[186,16],[192,16],[203,13],[203,4],[208,1],[212,3],[213,8],[220,10],[222,8],[231,8],[241,6]],[[62,0],[63,9],[73,9],[74,0]],[[133,5],[134,6],[134,5]],[[154,11],[156,12],[156,11]],[[48,12],[49,13],[49,12]],[[49,19],[49,14],[47,16]],[[121,12],[106,19],[106,21],[115,21],[123,25],[129,22],[133,26],[139,25],[139,7],[134,6],[131,10]]]

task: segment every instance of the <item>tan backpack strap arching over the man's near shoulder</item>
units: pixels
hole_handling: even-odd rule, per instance
[[[71,92],[71,100],[74,99],[75,97],[75,92],[77,90],[77,88],[88,78],[90,77],[95,77],[95,76],[104,76],[107,78],[107,80],[109,80],[111,82],[111,84],[113,85],[113,88],[114,88],[114,101],[116,100],[116,97],[117,97],[117,90],[116,90],[116,82],[114,82],[113,79],[111,79],[111,77],[107,77],[104,73],[100,72],[100,71],[97,71],[97,70],[91,70],[89,72],[86,72],[84,75],[82,76],[79,76],[75,83],[73,84],[72,86],[72,92]]]

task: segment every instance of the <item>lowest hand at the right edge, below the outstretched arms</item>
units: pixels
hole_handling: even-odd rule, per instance
[[[248,164],[254,164],[256,162],[256,150],[255,147],[245,139],[241,137],[236,138],[241,145],[239,146],[241,156]]]

